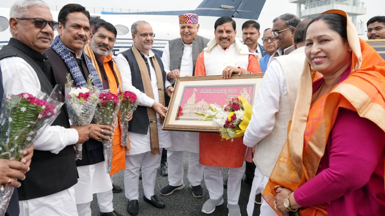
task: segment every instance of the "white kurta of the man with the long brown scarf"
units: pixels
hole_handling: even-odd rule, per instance
[[[149,64],[151,65],[151,61],[149,58],[154,56],[155,54],[149,50],[149,56],[146,56]],[[156,80],[156,73],[154,66],[150,66],[150,74],[151,74],[151,85],[152,91],[154,92],[154,99],[147,96],[145,93],[141,92],[137,88],[132,85],[132,77],[131,77],[131,69],[128,61],[124,58],[123,55],[117,55],[115,58],[116,64],[119,67],[119,70],[122,74],[122,85],[123,91],[133,91],[138,97],[138,105],[139,106],[148,106],[151,107],[154,104],[154,101],[159,102],[159,94]],[[169,85],[166,79],[166,85]],[[148,119],[147,119],[148,121]],[[158,121],[158,137],[159,137],[159,148],[167,148],[171,146],[171,136],[169,131],[162,130],[162,125],[160,123],[159,114],[157,114]],[[146,134],[133,133],[128,132],[128,136],[130,138],[130,146],[131,150],[126,151],[126,155],[136,155],[140,153],[145,153],[150,151],[150,126],[147,130]]]

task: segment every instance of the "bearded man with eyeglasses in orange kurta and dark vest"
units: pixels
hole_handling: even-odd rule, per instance
[[[122,91],[122,78],[116,63],[109,55],[114,47],[115,35],[113,32],[107,30],[107,28],[108,24],[106,24],[106,22],[95,25],[95,31],[93,30],[93,33],[90,35],[91,42],[85,46],[84,51],[90,56],[92,63],[99,74],[100,80],[102,81],[103,88],[105,90],[110,89],[111,93],[117,94]],[[115,173],[125,168],[126,160],[124,146],[121,145],[121,126],[118,123],[112,140],[111,180]],[[115,184],[112,184],[112,186],[112,191],[114,193],[119,193],[123,190],[121,186]]]

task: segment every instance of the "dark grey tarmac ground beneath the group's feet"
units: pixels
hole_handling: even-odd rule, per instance
[[[162,196],[159,191],[168,184],[167,176],[161,176],[160,166],[157,171],[157,179],[155,183],[155,194],[166,204],[164,209],[158,209],[143,200],[143,186],[142,180],[139,180],[139,214],[138,216],[227,216],[228,208],[227,205],[227,190],[223,191],[224,203],[217,206],[215,211],[211,214],[205,214],[201,211],[204,202],[209,199],[209,192],[206,189],[204,180],[201,185],[204,189],[204,196],[201,198],[195,198],[192,196],[192,189],[189,188],[189,181],[187,179],[189,154],[184,152],[183,168],[184,168],[184,179],[183,182],[186,185],[184,189],[174,191],[169,196]],[[244,166],[244,165],[243,165]],[[228,178],[228,169],[221,168],[223,179]],[[123,170],[119,171],[114,175],[114,184],[124,186],[123,182]],[[249,201],[251,186],[242,182],[241,194],[239,196],[239,207],[241,208],[241,215],[247,216],[247,203]],[[114,209],[124,215],[129,216],[127,212],[128,199],[124,195],[124,190],[121,193],[114,193]],[[254,204],[253,216],[259,215],[259,207],[261,205]],[[97,204],[96,194],[94,194],[94,200],[91,202],[92,216],[100,216],[100,209]]]

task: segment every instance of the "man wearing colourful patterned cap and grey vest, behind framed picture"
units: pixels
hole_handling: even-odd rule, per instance
[[[180,38],[170,40],[164,47],[162,62],[167,80],[174,83],[179,76],[194,76],[195,64],[199,53],[210,41],[197,35],[199,30],[198,15],[187,13],[179,16]],[[171,72],[169,72],[171,71]],[[174,88],[166,86],[171,96]],[[189,151],[189,170],[187,178],[190,182],[192,195],[202,197],[201,187],[203,165],[199,163],[199,133],[187,131],[171,131],[172,146],[167,148],[169,161],[169,184],[161,189],[163,196],[184,188],[183,183],[183,151]]]

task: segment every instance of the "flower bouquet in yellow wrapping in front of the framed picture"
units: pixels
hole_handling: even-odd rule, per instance
[[[209,104],[209,108],[207,115],[195,112],[206,117],[199,120],[213,121],[213,125],[219,128],[222,139],[231,141],[244,135],[253,114],[253,107],[241,96],[228,100],[224,106]]]

